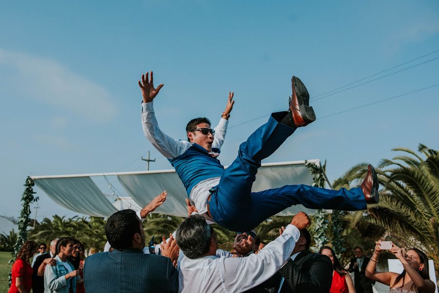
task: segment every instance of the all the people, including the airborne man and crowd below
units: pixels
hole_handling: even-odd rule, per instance
[[[155,117],[153,100],[163,84],[154,87],[151,71],[142,75],[139,86],[144,134],[168,159],[185,186],[188,217],[168,238],[163,237],[156,249],[145,249],[142,222],[165,202],[167,192],[137,212],[120,210],[106,222],[106,252],[90,255],[84,263],[84,248],[75,239],[52,241],[49,253],[44,253],[43,245],[28,241],[13,266],[11,293],[28,293],[37,285],[40,291],[34,292],[44,293],[84,289],[87,293],[362,293],[372,292],[372,281],[389,285],[395,293],[434,292],[435,285],[428,279],[427,258],[418,249],[391,249],[404,266],[401,274],[375,272],[381,253],[379,241],[370,259],[356,248],[348,269],[329,246],[322,247],[320,253],[312,252],[307,230],[311,220],[304,212],[281,227],[272,242],[261,243],[258,239],[253,229],[292,205],[361,210],[379,202],[378,178],[371,165],[361,185],[350,190],[286,185],[251,191],[261,161],[295,130],[315,120],[308,90],[300,79],[292,78],[287,110],[272,113],[268,122],[239,146],[236,160],[227,169],[218,157],[235,102],[233,92],[229,92],[218,126],[212,129],[205,117],[192,119],[186,126],[186,140],[177,140],[160,129]],[[212,223],[238,232],[232,251],[219,249]],[[42,254],[31,267],[29,258],[37,247]],[[354,280],[349,272],[354,272]]]

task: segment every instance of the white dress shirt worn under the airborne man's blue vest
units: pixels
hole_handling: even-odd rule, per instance
[[[142,103],[142,127],[145,137],[151,144],[167,159],[173,159],[182,155],[189,147],[192,146],[187,140],[178,140],[166,135],[158,126],[155,118],[153,103]],[[221,118],[215,129],[212,148],[221,148],[226,136],[229,121]],[[213,153],[213,152],[212,152]],[[195,185],[189,194],[189,201],[194,205],[200,214],[209,221],[213,221],[207,215],[207,200],[209,198],[209,189],[217,186],[220,177],[213,177],[201,181]]]

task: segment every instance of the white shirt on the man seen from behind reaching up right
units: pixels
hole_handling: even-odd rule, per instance
[[[268,280],[288,260],[299,236],[299,230],[288,225],[282,235],[257,254],[247,257],[209,255],[190,259],[183,256],[179,261],[178,291],[239,293],[256,287]]]

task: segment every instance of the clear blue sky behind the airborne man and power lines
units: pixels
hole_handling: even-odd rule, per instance
[[[439,50],[439,2],[8,1],[0,37],[0,214],[16,216],[28,175],[144,170],[148,150],[151,169],[170,168],[142,133],[137,81],[147,70],[165,84],[156,115],[177,138],[195,116],[215,124],[235,92],[228,165],[266,118],[235,125],[286,108],[292,75],[313,99]],[[437,149],[439,86],[319,119],[438,84],[437,57],[312,102],[317,121],[266,162],[327,160],[334,180],[397,146]],[[39,220],[74,215],[38,195]]]

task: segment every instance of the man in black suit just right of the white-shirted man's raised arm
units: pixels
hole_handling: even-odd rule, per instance
[[[328,256],[311,252],[310,244],[310,232],[306,229],[300,230],[300,237],[291,253],[291,258],[263,284],[269,292],[329,292],[333,264]]]

